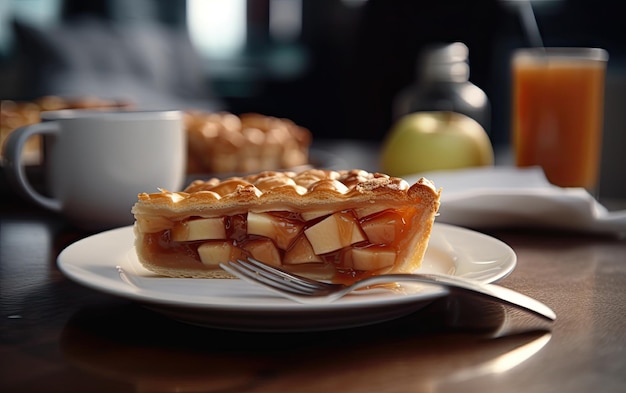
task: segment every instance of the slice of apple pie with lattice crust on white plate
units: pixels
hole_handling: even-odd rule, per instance
[[[426,180],[362,170],[261,172],[142,193],[135,248],[170,277],[227,278],[220,262],[251,256],[318,279],[352,282],[417,269],[439,208]]]

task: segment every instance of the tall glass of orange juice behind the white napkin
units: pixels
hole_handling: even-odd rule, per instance
[[[513,53],[517,166],[541,166],[557,186],[597,192],[607,61],[608,53],[600,48],[525,48]]]

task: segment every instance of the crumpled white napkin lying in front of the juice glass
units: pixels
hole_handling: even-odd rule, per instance
[[[421,173],[442,188],[438,222],[472,228],[551,228],[626,234],[626,210],[609,212],[583,188],[550,184],[541,168],[481,167]]]

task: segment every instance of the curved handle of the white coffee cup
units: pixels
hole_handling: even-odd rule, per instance
[[[36,134],[57,134],[58,132],[59,124],[54,121],[24,126],[13,130],[9,134],[4,148],[4,158],[7,168],[5,173],[11,185],[39,205],[56,212],[61,211],[61,202],[57,199],[41,195],[33,188],[26,176],[26,169],[22,163],[22,153],[26,140],[29,137]]]

